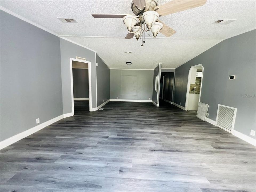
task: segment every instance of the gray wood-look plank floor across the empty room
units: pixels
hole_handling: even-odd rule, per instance
[[[109,102],[1,150],[1,192],[255,191],[255,147],[165,104]]]

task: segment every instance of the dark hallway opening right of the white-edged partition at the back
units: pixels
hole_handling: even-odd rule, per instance
[[[174,73],[161,72],[159,106],[171,104],[173,97]]]

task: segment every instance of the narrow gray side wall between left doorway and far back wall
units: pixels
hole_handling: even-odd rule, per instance
[[[110,99],[110,69],[96,53],[97,66],[97,106]]]

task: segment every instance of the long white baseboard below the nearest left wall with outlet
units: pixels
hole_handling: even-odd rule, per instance
[[[3,149],[5,147],[21,140],[21,139],[23,139],[23,138],[33,134],[33,133],[35,133],[35,132],[37,132],[37,131],[39,131],[39,130],[41,130],[41,129],[43,129],[43,128],[45,128],[45,127],[47,127],[47,126],[49,126],[49,125],[51,125],[51,124],[53,124],[53,123],[55,123],[59,120],[61,120],[61,119],[63,119],[63,115],[59,115],[58,117],[50,119],[49,121],[41,123],[41,124],[39,124],[35,127],[32,127],[30,129],[26,130],[26,131],[23,131],[23,132],[18,133],[17,135],[14,135],[14,136],[12,136],[8,139],[5,139],[5,140],[0,142],[0,149]]]

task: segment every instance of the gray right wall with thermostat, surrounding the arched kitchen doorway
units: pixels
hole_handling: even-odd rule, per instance
[[[209,104],[209,118],[216,120],[218,104],[235,107],[234,130],[253,137],[250,130],[256,127],[255,37],[253,30],[226,39],[175,69],[174,102],[185,107],[189,69],[201,63],[201,102]],[[236,79],[229,80],[229,75],[236,75]]]

